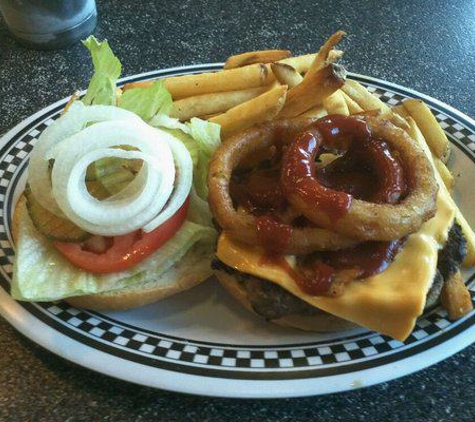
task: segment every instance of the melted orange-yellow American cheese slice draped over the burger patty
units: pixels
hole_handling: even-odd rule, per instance
[[[409,236],[391,265],[376,276],[349,283],[338,297],[302,292],[279,266],[262,264],[261,248],[235,242],[226,234],[221,234],[216,254],[226,265],[272,281],[316,308],[403,341],[424,310],[437,268],[437,254],[447,240],[455,210],[447,190],[441,188],[436,215]]]

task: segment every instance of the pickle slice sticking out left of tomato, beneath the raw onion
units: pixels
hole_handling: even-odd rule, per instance
[[[90,233],[76,226],[69,220],[58,217],[35,199],[30,187],[25,188],[26,207],[36,230],[48,239],[61,242],[82,242],[91,236]]]

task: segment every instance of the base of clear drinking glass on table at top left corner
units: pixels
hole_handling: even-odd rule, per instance
[[[86,38],[96,27],[95,0],[0,0],[13,36],[36,49],[56,49]]]

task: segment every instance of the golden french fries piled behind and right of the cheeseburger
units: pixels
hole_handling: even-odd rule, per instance
[[[293,57],[288,50],[252,51],[229,57],[218,72],[165,78],[174,100],[171,117],[181,121],[199,117],[218,123],[225,141],[249,127],[278,118],[378,111],[426,150],[441,189],[450,193],[454,178],[446,166],[449,141],[430,109],[415,99],[391,108],[360,83],[346,79],[344,68],[336,64],[343,56],[336,46],[344,36],[343,31],[336,32],[315,54]],[[129,83],[124,90],[151,83]],[[475,265],[475,234],[456,209],[468,244],[464,265],[471,267]],[[451,318],[472,308],[460,273],[444,283],[441,300]]]

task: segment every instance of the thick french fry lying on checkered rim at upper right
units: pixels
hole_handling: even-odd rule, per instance
[[[450,156],[449,140],[429,107],[423,101],[416,99],[406,100],[403,104],[419,126],[430,150],[447,163]]]

